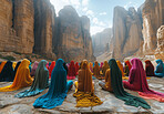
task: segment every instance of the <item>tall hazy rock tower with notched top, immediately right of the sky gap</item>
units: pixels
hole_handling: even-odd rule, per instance
[[[122,7],[114,8],[113,39],[110,43],[112,56],[123,60],[139,51],[142,38],[142,21],[134,8],[126,11]]]

